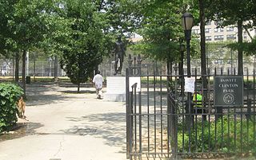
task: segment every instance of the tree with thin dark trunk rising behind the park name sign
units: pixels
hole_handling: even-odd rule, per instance
[[[254,0],[212,1],[210,11],[212,16],[211,19],[218,21],[219,27],[226,25],[238,26],[238,75],[242,76],[242,30],[252,26],[250,20],[255,18]]]

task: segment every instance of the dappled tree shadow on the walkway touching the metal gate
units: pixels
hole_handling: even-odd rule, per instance
[[[82,117],[66,117],[70,121],[81,125],[73,126],[65,131],[66,134],[92,135],[106,139],[106,145],[123,146],[126,143],[126,114],[110,112],[105,114],[92,114]]]

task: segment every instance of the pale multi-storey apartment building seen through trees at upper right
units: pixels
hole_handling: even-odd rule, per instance
[[[238,67],[237,52],[231,51],[230,49],[225,49],[219,45],[216,45],[216,49],[213,51],[209,49],[210,47],[208,47],[209,44],[207,44],[207,42],[214,42],[214,44],[218,44],[218,41],[238,41],[238,28],[235,25],[229,25],[221,28],[217,27],[217,23],[217,21],[206,22],[206,64],[207,67],[210,68],[219,68],[219,70],[222,68],[223,72],[227,72],[228,69],[232,70],[233,72],[233,70]],[[192,28],[192,33],[198,35],[198,38],[200,38],[200,26],[195,25]],[[248,29],[248,31],[243,30],[243,41],[251,41],[250,37],[255,36],[256,29]],[[247,69],[249,70],[248,72],[253,72],[253,68],[255,66],[255,57],[244,56],[243,62],[244,72],[246,72]],[[200,70],[198,65],[195,65],[198,70]]]

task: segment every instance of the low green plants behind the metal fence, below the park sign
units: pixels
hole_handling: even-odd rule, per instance
[[[255,122],[228,115],[215,122],[198,121],[189,135],[178,132],[178,150],[191,152],[256,153]],[[234,120],[235,119],[235,120]],[[190,144],[189,144],[190,136]],[[182,141],[184,139],[184,148]]]

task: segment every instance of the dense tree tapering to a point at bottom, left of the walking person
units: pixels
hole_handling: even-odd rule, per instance
[[[62,41],[63,54],[61,67],[74,84],[86,82],[94,71],[95,65],[102,62],[104,35],[102,15],[92,2],[66,1],[63,10],[70,28],[66,31],[66,41]]]

